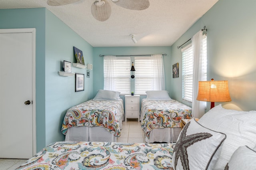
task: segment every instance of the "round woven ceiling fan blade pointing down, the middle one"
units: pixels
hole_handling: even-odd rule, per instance
[[[103,5],[102,5],[103,3]],[[98,5],[100,4],[100,5]],[[92,16],[98,21],[106,21],[111,15],[111,7],[105,0],[95,1],[91,7]]]

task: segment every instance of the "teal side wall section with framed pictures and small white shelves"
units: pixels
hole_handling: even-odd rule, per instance
[[[61,133],[63,118],[66,111],[79,103],[93,97],[93,70],[90,78],[86,77],[86,69],[72,67],[72,73],[84,74],[84,91],[75,92],[75,76],[60,76],[63,60],[76,63],[73,46],[82,50],[84,62],[93,62],[93,47],[46,10],[46,145],[54,141],[64,140]]]

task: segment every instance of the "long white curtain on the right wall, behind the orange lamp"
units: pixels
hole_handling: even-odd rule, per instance
[[[202,60],[202,39],[203,32],[200,30],[192,38],[192,48],[194,56],[193,66],[193,92],[192,92],[192,115],[195,118],[201,118],[204,115],[204,102],[196,100],[198,94],[198,81],[204,77],[204,68]]]

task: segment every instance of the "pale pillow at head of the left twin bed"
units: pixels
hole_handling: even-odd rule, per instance
[[[98,90],[98,93],[94,97],[93,100],[97,101],[108,101],[108,100],[118,100],[120,92],[119,91],[111,91],[111,90]]]

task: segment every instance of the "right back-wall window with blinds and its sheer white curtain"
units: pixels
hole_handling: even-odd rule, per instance
[[[162,55],[134,57],[135,94],[146,95],[148,90],[164,90],[164,65]]]

